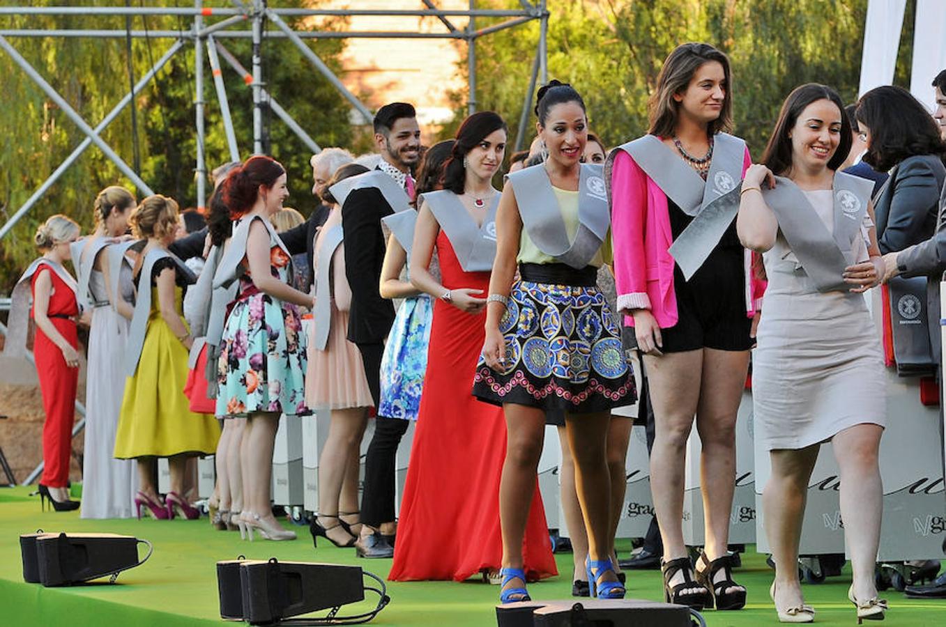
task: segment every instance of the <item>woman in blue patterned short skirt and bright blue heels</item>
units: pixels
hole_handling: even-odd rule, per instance
[[[502,602],[528,601],[525,530],[545,418],[564,411],[594,594],[624,596],[610,559],[610,477],[605,437],[611,409],[633,403],[634,377],[598,269],[610,257],[601,167],[581,163],[587,144],[582,97],[553,80],[538,92],[543,165],[509,175],[496,218],[485,341],[473,393],[501,405],[507,443],[499,487]],[[515,279],[518,267],[519,279]]]

